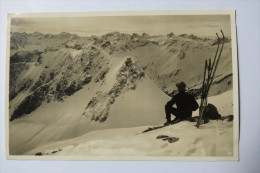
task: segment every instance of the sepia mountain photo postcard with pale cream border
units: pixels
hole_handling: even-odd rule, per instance
[[[238,160],[235,10],[8,14],[6,156]]]

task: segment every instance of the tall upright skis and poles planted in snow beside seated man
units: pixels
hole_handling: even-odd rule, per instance
[[[225,43],[224,33],[222,30],[220,30],[220,31],[222,34],[222,43],[220,43],[221,40],[220,40],[218,34],[216,33],[217,38],[218,38],[218,46],[217,46],[214,60],[212,63],[211,63],[211,59],[205,61],[203,82],[202,82],[202,88],[201,88],[201,102],[200,102],[200,108],[199,108],[199,119],[198,119],[198,122],[196,125],[196,127],[198,127],[198,128],[202,124],[202,118],[203,118],[203,114],[205,112],[204,110],[205,110],[205,107],[208,105],[207,97],[208,97],[209,89],[214,80],[216,69],[218,67],[219,59],[221,57],[224,43]],[[220,44],[221,44],[221,48],[219,50]]]

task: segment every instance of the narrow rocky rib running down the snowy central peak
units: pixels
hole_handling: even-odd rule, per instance
[[[99,80],[105,80],[104,72],[99,75]],[[120,68],[116,83],[107,93],[98,92],[96,96],[89,101],[83,115],[90,117],[93,121],[104,122],[109,115],[110,106],[115,102],[116,98],[127,90],[136,88],[137,80],[144,77],[143,69],[138,66],[131,58],[127,58],[125,63]]]

